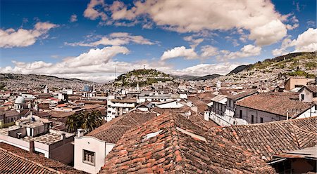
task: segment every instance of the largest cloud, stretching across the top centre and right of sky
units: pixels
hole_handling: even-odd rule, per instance
[[[86,11],[92,11],[92,6],[98,5],[104,6],[104,2],[92,0]],[[145,0],[135,1],[129,8],[121,1],[114,1],[105,9],[105,12],[111,13],[109,21],[137,21],[143,18],[147,23],[147,19],[151,19],[150,24],[154,22],[157,26],[177,32],[246,29],[249,39],[255,40],[259,46],[273,44],[286,36],[287,25],[283,22],[290,17],[275,11],[271,1],[266,0],[226,3],[218,0]],[[94,15],[87,18],[96,19],[102,13],[94,10]],[[294,27],[296,25],[288,25],[289,29]]]

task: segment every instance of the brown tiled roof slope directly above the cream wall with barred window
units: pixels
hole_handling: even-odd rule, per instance
[[[116,144],[122,135],[130,128],[139,126],[142,123],[153,119],[155,116],[156,114],[151,112],[129,112],[128,114],[104,123],[86,136],[92,136],[99,140]]]

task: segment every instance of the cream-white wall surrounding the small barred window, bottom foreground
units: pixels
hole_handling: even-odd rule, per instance
[[[89,163],[84,163],[83,151],[88,150],[94,152],[95,163],[94,166]],[[98,173],[102,166],[104,166],[104,160],[106,154],[110,152],[112,148],[106,149],[106,142],[97,138],[84,136],[81,138],[75,138],[74,140],[74,168],[77,170],[83,170],[87,173]]]

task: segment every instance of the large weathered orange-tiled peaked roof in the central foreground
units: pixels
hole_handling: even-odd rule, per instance
[[[206,132],[185,116],[161,114],[127,131],[100,173],[275,173],[254,154]],[[159,134],[147,138],[151,133]]]

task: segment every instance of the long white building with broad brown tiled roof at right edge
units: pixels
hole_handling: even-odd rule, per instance
[[[317,116],[316,105],[298,100],[293,93],[260,93],[237,102],[235,117],[248,123],[266,123]]]

